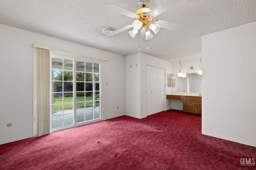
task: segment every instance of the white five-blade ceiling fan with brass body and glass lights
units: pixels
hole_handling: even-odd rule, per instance
[[[150,29],[155,34],[158,33],[160,27],[171,29],[174,31],[181,31],[182,29],[184,29],[184,25],[182,24],[173,23],[169,21],[155,20],[156,16],[162,14],[163,12],[165,12],[166,10],[168,10],[180,1],[182,0],[162,0],[154,8],[150,9],[145,8],[146,5],[148,4],[148,0],[140,0],[139,4],[140,6],[142,6],[142,8],[139,8],[134,13],[116,4],[107,4],[106,8],[108,10],[118,12],[120,14],[123,14],[134,19],[132,24],[129,24],[111,33],[108,33],[108,35],[113,36],[132,27],[133,30],[129,31],[129,34],[131,35],[132,38],[134,38],[135,35],[140,31],[142,40],[149,40],[153,37],[152,33],[150,32]]]

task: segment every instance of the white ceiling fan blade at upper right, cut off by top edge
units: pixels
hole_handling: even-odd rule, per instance
[[[152,8],[149,12],[152,16],[158,16],[171,8],[172,6],[178,4],[182,0],[162,0],[159,4],[157,4],[154,8]]]

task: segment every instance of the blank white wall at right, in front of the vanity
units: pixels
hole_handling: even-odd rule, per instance
[[[256,22],[202,37],[202,134],[256,147]]]

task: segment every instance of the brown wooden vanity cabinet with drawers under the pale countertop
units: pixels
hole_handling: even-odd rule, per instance
[[[167,99],[183,100],[183,111],[202,114],[202,97],[166,95]]]

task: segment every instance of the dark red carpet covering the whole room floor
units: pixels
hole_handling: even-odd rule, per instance
[[[245,170],[256,148],[201,134],[201,116],[121,116],[0,145],[1,170]]]

